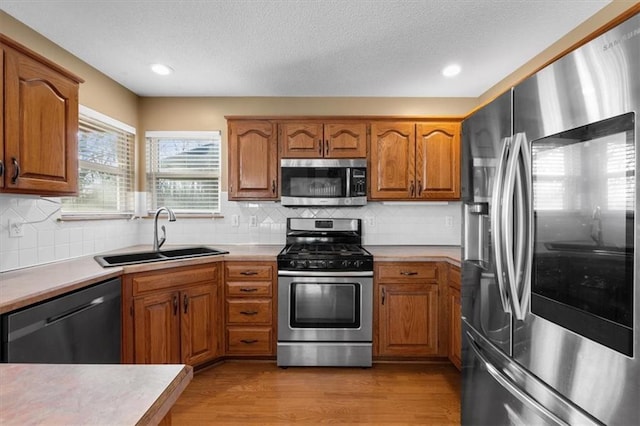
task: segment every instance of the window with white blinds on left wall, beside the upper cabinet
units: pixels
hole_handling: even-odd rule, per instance
[[[62,199],[68,216],[131,215],[135,129],[80,106],[78,196]]]

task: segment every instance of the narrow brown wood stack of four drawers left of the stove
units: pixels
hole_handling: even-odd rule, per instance
[[[274,356],[275,262],[225,263],[225,353]]]

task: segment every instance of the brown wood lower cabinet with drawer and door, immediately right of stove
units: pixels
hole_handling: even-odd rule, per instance
[[[374,356],[443,355],[438,337],[439,276],[438,263],[381,262],[375,266]]]

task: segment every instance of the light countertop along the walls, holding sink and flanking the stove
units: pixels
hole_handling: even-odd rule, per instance
[[[165,246],[165,249],[183,246]],[[281,245],[213,245],[228,251],[220,256],[176,259],[163,262],[141,263],[121,267],[103,268],[93,256],[65,260],[30,268],[0,273],[0,314],[7,313],[43,300],[77,290],[122,274],[198,265],[215,261],[271,261],[282,250]],[[447,261],[460,265],[460,247],[457,246],[365,246],[378,262]],[[128,247],[110,252],[148,251],[149,245]]]

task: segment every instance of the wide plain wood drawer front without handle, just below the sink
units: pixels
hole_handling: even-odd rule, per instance
[[[217,264],[205,266],[189,266],[167,271],[151,271],[135,274],[132,278],[133,295],[150,291],[174,288],[184,284],[213,282],[218,278]]]

